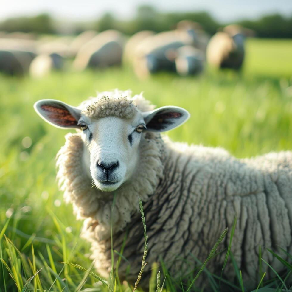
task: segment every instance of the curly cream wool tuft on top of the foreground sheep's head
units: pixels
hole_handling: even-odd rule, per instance
[[[138,111],[151,111],[154,105],[139,95],[131,96],[131,91],[104,91],[83,102],[82,113],[91,118],[114,116],[131,119]]]

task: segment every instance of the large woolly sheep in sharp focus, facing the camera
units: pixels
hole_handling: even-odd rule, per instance
[[[138,198],[148,234],[144,288],[151,265],[160,259],[173,277],[197,266],[194,258],[204,262],[236,215],[231,250],[248,291],[260,280],[259,245],[291,253],[292,151],[236,159],[221,148],[172,142],[161,132],[183,124],[189,113],[175,106],[154,109],[131,91],[102,92],[78,107],[39,100],[34,108],[49,124],[77,130],[66,135],[57,154],[57,178],[65,201],[84,219],[82,236],[91,242],[91,258],[103,277],[111,270],[112,224],[114,250],[125,240],[127,261],[119,263],[119,277],[136,280],[145,242]],[[219,250],[227,248],[229,238],[230,233]],[[265,248],[261,256],[280,272],[281,263]],[[225,252],[218,253],[207,268],[220,274],[224,259]],[[265,280],[274,277],[267,265],[265,271]],[[231,262],[224,273],[236,281]],[[198,287],[206,285],[205,276]]]

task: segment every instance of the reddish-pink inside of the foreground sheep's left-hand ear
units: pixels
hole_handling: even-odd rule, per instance
[[[74,126],[76,119],[66,108],[57,108],[52,105],[41,105],[41,109],[48,112],[48,118],[60,126]]]

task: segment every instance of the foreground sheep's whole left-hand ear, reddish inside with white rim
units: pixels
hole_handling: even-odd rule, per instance
[[[77,126],[81,110],[53,99],[39,100],[34,104],[38,115],[57,128],[80,128]]]

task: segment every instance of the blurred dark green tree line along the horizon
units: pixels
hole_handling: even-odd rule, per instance
[[[104,31],[106,29],[118,29],[127,35],[132,35],[140,30],[153,30],[161,32],[174,29],[178,21],[189,19],[201,24],[202,28],[213,35],[218,28],[225,26],[219,23],[207,12],[185,12],[185,13],[161,13],[154,7],[143,5],[138,7],[133,19],[120,20],[111,13],[105,13],[100,19],[93,23],[72,23],[71,33],[78,34],[86,29]],[[266,15],[257,20],[241,20],[238,24],[253,29],[257,37],[262,38],[292,38],[292,15],[283,17],[280,14]],[[6,32],[35,32],[35,33],[61,33],[60,26],[48,14],[35,17],[10,18],[0,23],[0,30]]]

